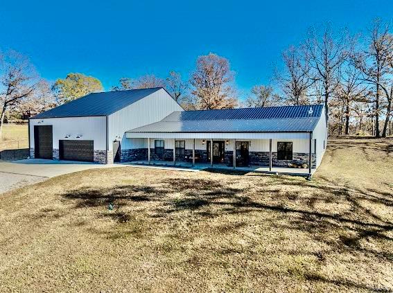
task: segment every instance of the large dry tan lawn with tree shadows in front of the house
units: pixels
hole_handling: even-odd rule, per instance
[[[87,170],[1,195],[1,292],[392,292],[393,141],[312,181]]]

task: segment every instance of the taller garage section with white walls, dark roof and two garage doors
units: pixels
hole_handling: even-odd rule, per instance
[[[182,110],[163,88],[89,94],[29,119],[30,158],[120,161],[126,130]]]

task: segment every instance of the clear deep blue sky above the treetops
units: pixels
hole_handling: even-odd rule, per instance
[[[392,0],[375,1],[2,1],[0,50],[30,57],[43,78],[69,72],[109,89],[123,76],[188,79],[198,55],[225,56],[244,96],[269,82],[281,51],[308,27],[365,32],[375,17],[392,20]]]

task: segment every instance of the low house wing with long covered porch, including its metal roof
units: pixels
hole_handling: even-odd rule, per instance
[[[324,113],[323,105],[177,111],[125,132],[122,161],[265,166],[270,171],[296,161],[311,175],[326,148]]]

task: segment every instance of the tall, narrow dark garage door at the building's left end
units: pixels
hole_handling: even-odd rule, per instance
[[[35,159],[52,159],[52,125],[34,125]]]

